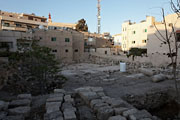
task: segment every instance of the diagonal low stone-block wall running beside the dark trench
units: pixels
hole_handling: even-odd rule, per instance
[[[82,87],[75,91],[98,120],[158,120],[146,110],[138,110],[121,98],[106,96],[102,87]]]

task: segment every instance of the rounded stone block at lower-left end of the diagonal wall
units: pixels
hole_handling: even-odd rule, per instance
[[[99,120],[108,120],[109,117],[114,115],[114,110],[109,106],[104,106],[98,109],[97,118]]]

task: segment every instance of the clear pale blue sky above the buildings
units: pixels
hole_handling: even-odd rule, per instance
[[[171,13],[170,0],[102,0],[101,32],[112,35],[121,32],[121,24],[126,20],[140,22],[146,15],[161,20],[161,9]],[[84,18],[89,31],[97,31],[97,0],[0,0],[2,11],[17,13],[35,13],[48,17],[54,22],[76,23]]]

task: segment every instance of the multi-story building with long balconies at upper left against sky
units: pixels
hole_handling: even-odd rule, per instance
[[[35,14],[0,11],[0,30],[25,32],[28,29],[47,27],[47,18]]]

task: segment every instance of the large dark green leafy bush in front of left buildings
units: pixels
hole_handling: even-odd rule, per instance
[[[51,49],[39,46],[37,41],[33,41],[30,45],[30,50],[16,52],[9,57],[11,66],[16,71],[17,80],[23,83],[22,86],[17,82],[22,86],[21,91],[43,94],[60,87],[64,78],[58,75],[58,62],[51,54]]]

